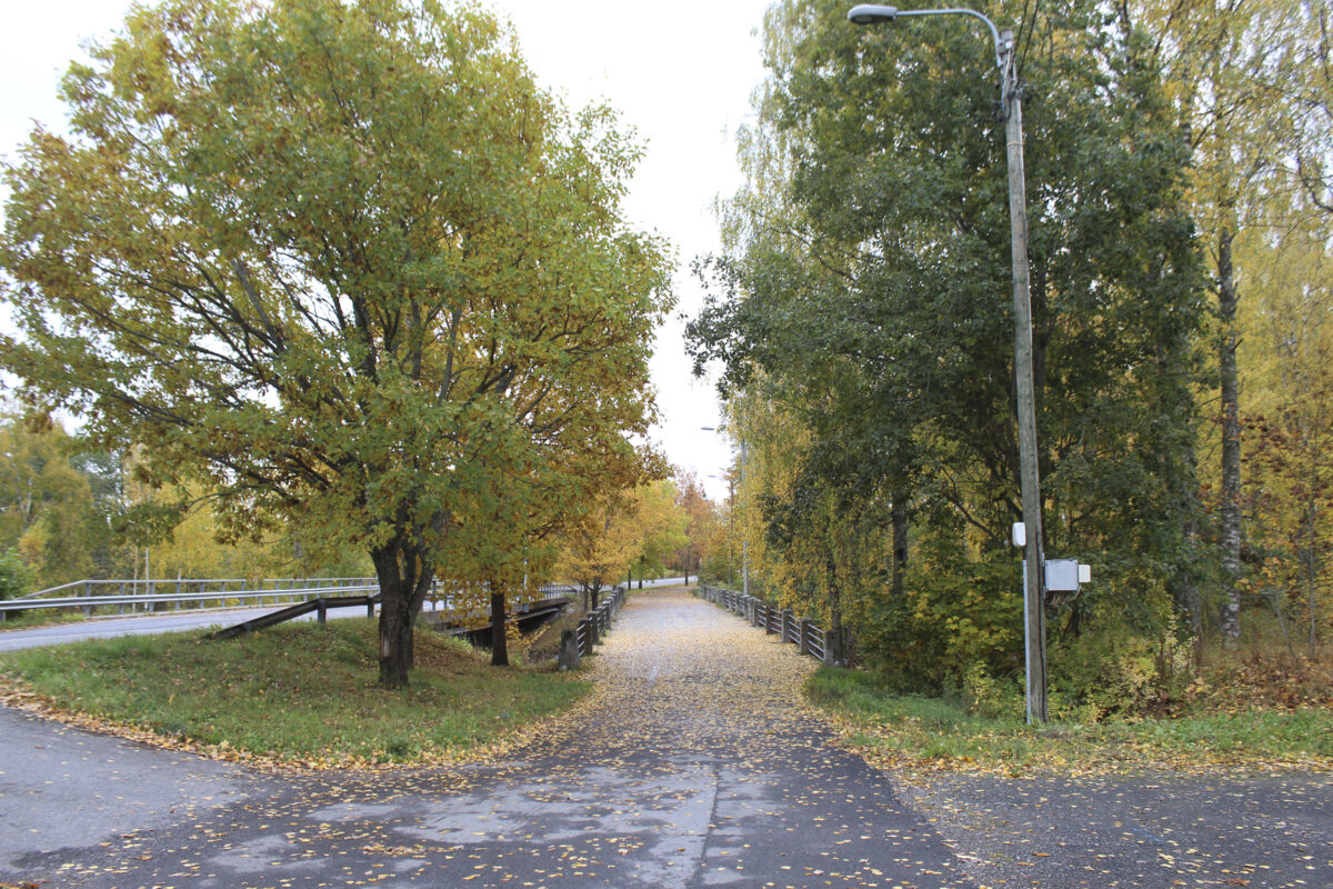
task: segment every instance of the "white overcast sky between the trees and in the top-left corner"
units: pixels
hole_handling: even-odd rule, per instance
[[[663,420],[655,432],[672,462],[693,469],[709,496],[730,462],[712,383],[690,376],[680,315],[702,295],[689,261],[718,247],[713,199],[740,184],[734,132],[762,77],[756,36],[770,0],[484,0],[519,32],[528,64],[572,107],[605,100],[647,141],[631,187],[629,219],[676,248],[680,305],[657,335],[653,379]],[[0,0],[0,153],[39,120],[64,125],[56,84],[89,37],[124,20],[124,0]]]

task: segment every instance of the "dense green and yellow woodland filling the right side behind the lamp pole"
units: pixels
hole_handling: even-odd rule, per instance
[[[1093,0],[1017,33],[1052,708],[1333,626],[1328,8]],[[748,466],[752,588],[910,690],[1017,690],[1018,448],[989,35],[786,0],[690,327]]]

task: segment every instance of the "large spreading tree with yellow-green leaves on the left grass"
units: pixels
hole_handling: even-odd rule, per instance
[[[72,136],[8,169],[0,364],[145,481],[216,489],[232,533],[301,516],[363,545],[380,678],[407,684],[497,468],[637,460],[669,308],[661,244],[620,216],[637,148],[432,0],[173,0],[63,95]]]

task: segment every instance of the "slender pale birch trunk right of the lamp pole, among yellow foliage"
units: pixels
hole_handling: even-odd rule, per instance
[[[1234,232],[1224,228],[1217,236],[1217,313],[1221,320],[1218,368],[1222,389],[1222,613],[1221,632],[1226,640],[1241,636],[1241,423],[1236,373],[1236,276],[1232,268]]]

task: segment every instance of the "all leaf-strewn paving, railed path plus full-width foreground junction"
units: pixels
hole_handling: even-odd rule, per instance
[[[57,886],[1333,886],[1328,777],[930,778],[829,745],[813,664],[677,590],[504,761],[269,776],[0,709],[0,881]]]

